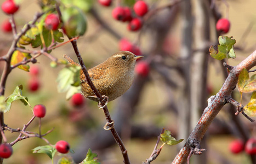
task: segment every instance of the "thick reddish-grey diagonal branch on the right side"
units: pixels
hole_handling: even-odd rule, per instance
[[[225,80],[225,83],[221,87],[220,91],[216,94],[216,96],[212,96],[208,99],[208,106],[204,109],[204,112],[197,122],[194,130],[190,134],[187,139],[186,144],[180,150],[179,154],[173,160],[174,163],[185,163],[187,160],[187,156],[190,153],[190,145],[188,143],[189,140],[195,139],[198,142],[201,142],[204,134],[206,133],[209,125],[220,112],[221,108],[226,104],[225,97],[229,97],[235,88],[238,80],[238,75],[242,71],[243,68],[247,70],[251,69],[256,65],[256,50],[249,55],[245,60],[243,60],[240,64],[235,66],[232,70],[230,70],[230,74]]]

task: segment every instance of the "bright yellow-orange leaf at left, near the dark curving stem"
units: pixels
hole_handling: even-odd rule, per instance
[[[24,57],[31,58],[30,54],[27,54],[27,53],[16,50],[16,51],[13,52],[13,56],[12,56],[12,60],[10,61],[10,64],[12,66],[18,64],[19,62],[23,61]],[[18,66],[18,68],[29,72],[30,66],[29,65],[20,65],[20,66]]]

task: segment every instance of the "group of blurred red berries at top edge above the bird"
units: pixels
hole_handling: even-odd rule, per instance
[[[111,0],[98,0],[101,5],[110,6]],[[129,22],[127,28],[129,31],[138,31],[143,26],[141,16],[144,16],[148,7],[144,1],[137,1],[133,6],[134,13],[129,7],[118,6],[112,10],[112,16],[114,19],[122,22]]]

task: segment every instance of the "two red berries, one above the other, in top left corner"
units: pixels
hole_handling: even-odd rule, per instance
[[[15,4],[13,0],[4,1],[1,7],[5,14],[14,14],[19,10],[19,5]],[[9,19],[2,22],[1,29],[3,32],[12,32],[12,25]]]

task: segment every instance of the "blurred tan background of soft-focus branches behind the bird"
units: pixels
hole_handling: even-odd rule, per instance
[[[0,1],[1,4],[3,2]],[[167,0],[145,2],[149,5],[149,11],[174,3]],[[136,68],[132,87],[120,98],[109,102],[107,107],[126,145],[131,163],[142,163],[149,158],[162,128],[170,130],[176,139],[183,138],[184,141],[178,145],[166,145],[153,161],[170,163],[207,107],[207,99],[219,91],[227,75],[224,61],[214,60],[209,55],[209,47],[218,44],[220,33],[216,31],[216,21],[224,17],[231,23],[230,31],[223,35],[236,39],[237,58],[228,61],[229,65],[235,66],[255,50],[256,2],[181,1],[145,16],[143,28],[138,32],[127,30],[126,22],[113,19],[111,12],[116,4],[117,1],[113,1],[110,7],[103,7],[98,1],[92,1],[85,13],[87,32],[77,41],[79,51],[89,69],[120,51],[122,38],[139,47],[141,55],[145,57],[138,64],[144,62],[146,66]],[[31,21],[38,11],[41,11],[38,1],[21,1],[18,14],[15,14],[18,30]],[[1,11],[0,22],[6,19],[8,15]],[[0,35],[0,56],[3,56],[12,44],[13,35],[3,31],[0,31]],[[30,46],[27,48],[32,49]],[[53,50],[51,54],[57,58],[66,54],[77,61],[70,43]],[[89,148],[98,154],[101,163],[122,163],[122,154],[115,140],[109,131],[103,129],[106,120],[97,103],[85,99],[83,106],[73,106],[66,100],[66,93],[58,93],[57,90],[56,79],[64,66],[50,67],[51,60],[46,56],[38,57],[37,61],[38,90],[31,91],[31,75],[16,68],[8,77],[5,97],[22,84],[22,93],[29,98],[32,107],[44,104],[47,115],[42,119],[42,132],[55,127],[45,138],[52,144],[58,140],[69,142],[75,154],[68,155],[77,163],[86,157]],[[0,62],[1,74],[3,64]],[[149,71],[145,71],[145,67]],[[138,71],[140,69],[144,71]],[[233,96],[239,101],[237,89]],[[243,95],[244,105],[250,96]],[[192,156],[191,163],[252,163],[252,157],[244,151],[234,154],[230,150],[234,140],[246,142],[248,138],[256,137],[255,122],[249,122],[243,115],[235,116],[235,112],[230,104],[221,110],[202,140],[201,146],[207,149],[206,153]],[[4,122],[10,127],[21,128],[32,115],[29,107],[15,101],[10,112],[5,113]],[[27,130],[38,132],[38,120],[33,121]],[[10,132],[6,132],[6,135],[8,142],[18,136]],[[4,160],[4,163],[51,163],[47,155],[32,154],[31,151],[45,144],[39,138],[22,140],[13,146],[12,157]],[[56,155],[54,163],[60,157]]]

